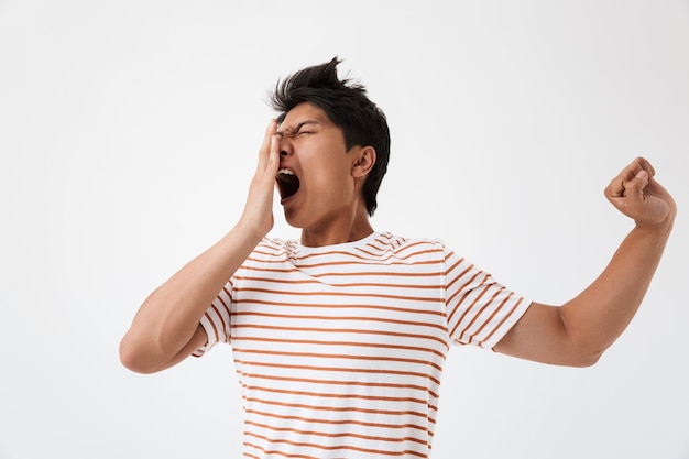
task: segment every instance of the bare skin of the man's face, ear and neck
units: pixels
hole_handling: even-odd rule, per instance
[[[371,234],[361,187],[375,150],[347,151],[342,130],[310,103],[287,113],[277,138],[280,167],[292,170],[300,182],[296,195],[282,205],[287,222],[302,228],[302,243],[328,245]]]

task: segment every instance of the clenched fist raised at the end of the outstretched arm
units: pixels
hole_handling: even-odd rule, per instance
[[[637,157],[605,187],[605,197],[636,226],[672,225],[677,206],[672,197],[654,178],[648,161]]]

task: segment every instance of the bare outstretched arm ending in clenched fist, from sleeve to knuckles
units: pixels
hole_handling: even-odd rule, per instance
[[[595,363],[627,327],[660,262],[677,212],[672,197],[638,157],[605,188],[635,221],[600,276],[561,306],[533,303],[494,347],[496,352],[571,367]]]

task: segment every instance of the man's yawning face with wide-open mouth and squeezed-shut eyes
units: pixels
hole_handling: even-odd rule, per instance
[[[327,230],[351,219],[361,200],[342,130],[320,108],[305,102],[289,110],[277,130],[280,171],[276,185],[287,222],[296,228]]]

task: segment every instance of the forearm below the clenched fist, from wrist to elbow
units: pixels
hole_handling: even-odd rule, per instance
[[[636,314],[667,243],[672,221],[636,227],[601,275],[560,309],[573,342],[593,356],[608,349]]]

